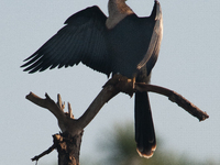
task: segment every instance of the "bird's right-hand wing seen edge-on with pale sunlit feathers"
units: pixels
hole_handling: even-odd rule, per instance
[[[150,20],[153,19],[155,21],[155,24],[147,52],[144,58],[138,65],[138,69],[141,69],[142,67],[146,66],[147,75],[150,75],[158,57],[161,42],[163,37],[163,16],[162,16],[161,4],[157,1],[155,1],[152,14],[147,19]]]

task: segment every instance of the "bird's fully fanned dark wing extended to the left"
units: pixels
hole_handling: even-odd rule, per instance
[[[98,7],[90,7],[68,18],[61,29],[22,67],[30,73],[43,72],[82,62],[87,66],[110,74],[105,40],[107,16]]]

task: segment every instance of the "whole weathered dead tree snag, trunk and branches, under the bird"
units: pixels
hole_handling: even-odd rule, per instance
[[[54,144],[47,151],[32,158],[32,161],[38,161],[42,156],[56,148],[58,152],[58,165],[79,165],[79,153],[84,128],[86,128],[96,117],[102,106],[116,95],[119,92],[125,92],[132,96],[136,90],[164,95],[168,97],[169,100],[176,102],[178,106],[188,111],[190,114],[198,118],[199,121],[209,118],[206,112],[201,111],[190,101],[186,100],[175,91],[158,86],[133,82],[131,79],[128,79],[121,75],[113,76],[113,78],[111,78],[103,86],[103,89],[99,92],[89,108],[79,119],[74,118],[70,103],[68,103],[68,112],[64,112],[65,105],[62,102],[59,95],[56,103],[47,94],[45,95],[46,98],[42,99],[33,92],[30,92],[26,96],[26,99],[42,108],[50,110],[56,117],[58,125],[62,130],[62,133],[53,135]]]

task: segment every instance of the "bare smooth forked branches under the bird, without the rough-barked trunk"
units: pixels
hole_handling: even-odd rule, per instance
[[[116,75],[113,76],[113,78],[108,80],[108,82],[103,86],[103,89],[79,119],[74,119],[70,103],[68,103],[68,113],[64,113],[65,106],[62,102],[62,98],[59,95],[57,96],[57,103],[55,103],[47,94],[45,95],[46,99],[42,99],[31,92],[26,96],[26,99],[36,103],[37,106],[48,109],[57,118],[61,130],[63,132],[68,131],[72,135],[75,135],[80,133],[84,128],[89,124],[89,122],[96,117],[102,106],[108,102],[112,97],[118,95],[120,91],[132,96],[135,90],[151,91],[164,95],[168,97],[169,100],[176,102],[179,107],[184,108],[187,112],[198,118],[199,121],[209,118],[206,112],[201,111],[198,107],[196,107],[190,101],[173,90],[153,85],[140,82],[133,84],[131,79],[128,79],[127,77],[123,77],[121,75]]]

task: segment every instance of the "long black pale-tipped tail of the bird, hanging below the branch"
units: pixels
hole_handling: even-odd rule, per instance
[[[135,141],[141,156],[151,157],[156,150],[156,139],[147,92],[135,92]]]

